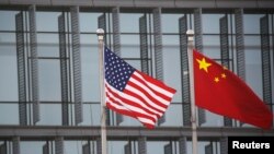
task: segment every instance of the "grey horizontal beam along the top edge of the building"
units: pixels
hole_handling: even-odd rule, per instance
[[[123,8],[273,8],[273,0],[0,0],[8,5],[80,5]]]

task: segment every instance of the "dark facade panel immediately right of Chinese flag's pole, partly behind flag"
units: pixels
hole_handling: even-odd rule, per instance
[[[202,9],[194,10],[195,48],[203,52]],[[205,110],[198,108],[198,126],[206,122]]]

